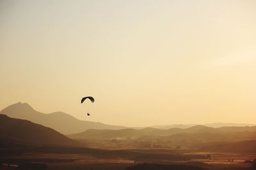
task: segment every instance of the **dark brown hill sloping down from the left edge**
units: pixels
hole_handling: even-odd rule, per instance
[[[19,143],[31,145],[76,145],[49,127],[34,124],[28,120],[10,118],[0,114],[0,143]]]

